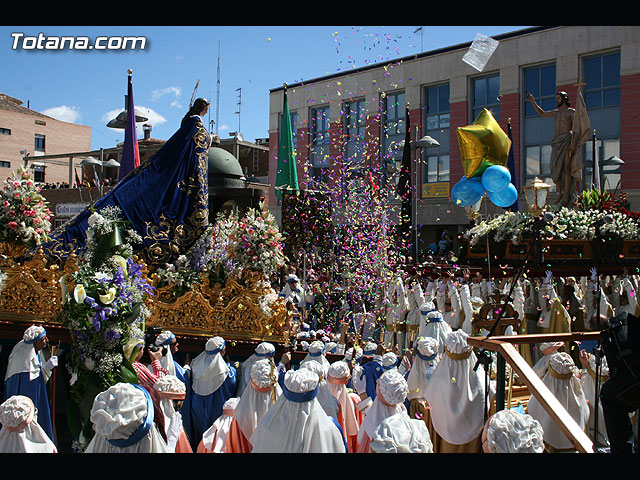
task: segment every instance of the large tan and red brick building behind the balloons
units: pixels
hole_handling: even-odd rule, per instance
[[[348,202],[357,182],[344,182],[346,171],[350,175],[372,171],[382,182],[397,182],[408,105],[412,141],[429,135],[440,143],[413,153],[418,244],[424,249],[443,232],[455,238],[469,225],[465,210],[449,197],[463,176],[457,127],[473,123],[485,107],[505,131],[510,123],[519,204],[526,209],[522,187],[533,178],[551,184],[552,192],[555,189],[549,171],[554,120],[539,117],[526,92],[551,110],[558,91],[567,92],[575,106],[578,85],[583,84],[595,131],[594,140],[583,146],[584,185],[592,181],[594,152],[600,161],[617,156],[624,164],[603,167],[605,187],[622,189],[632,209],[640,210],[640,27],[544,26],[494,39],[498,48],[482,71],[462,61],[470,41],[287,85],[301,188],[343,189],[342,198]],[[283,90],[278,86],[270,91],[272,191]],[[551,193],[550,202],[555,196]],[[275,196],[270,198],[279,215]],[[395,224],[399,203],[399,198],[389,198],[389,216]],[[502,211],[483,201],[483,215]]]

